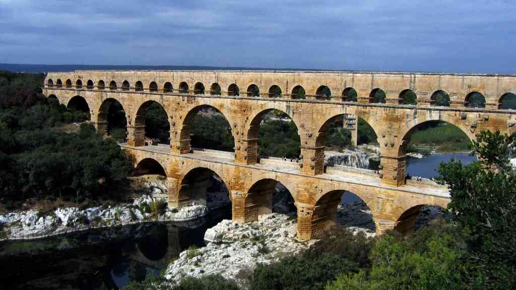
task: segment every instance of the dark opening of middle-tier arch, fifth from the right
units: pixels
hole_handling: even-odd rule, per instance
[[[159,105],[159,107],[161,109],[160,112],[156,112],[156,113],[163,114],[163,112],[164,112],[165,114],[163,116],[161,116],[162,118],[158,118],[155,123],[153,122],[151,124],[148,124],[148,123],[146,123],[147,112],[149,111],[151,106],[153,106],[155,104]],[[157,107],[154,107],[154,109],[157,109]],[[166,131],[167,131],[166,133],[163,131],[160,131],[160,129],[159,129],[159,126],[162,125],[159,122],[162,122],[162,121],[166,122],[165,124],[168,125],[168,128],[166,129]],[[138,110],[136,112],[135,125],[137,127],[141,128],[140,130],[143,130],[143,132],[144,132],[144,136],[139,136],[140,139],[138,141],[135,141],[136,144],[145,144],[144,137],[148,136],[149,133],[152,133],[151,135],[153,135],[153,136],[148,136],[148,137],[151,137],[154,139],[159,139],[165,143],[170,138],[170,133],[169,133],[170,121],[169,121],[168,112],[165,109],[165,107],[163,106],[163,104],[161,104],[159,102],[149,100],[149,101],[142,103],[138,107]],[[141,139],[141,138],[143,138],[143,139]]]

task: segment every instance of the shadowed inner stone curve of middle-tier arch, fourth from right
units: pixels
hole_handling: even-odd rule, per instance
[[[181,151],[182,153],[188,153],[190,152],[191,150],[191,147],[192,147],[192,142],[195,142],[195,141],[199,141],[198,143],[205,143],[207,144],[207,146],[212,146],[213,144],[209,144],[209,141],[210,140],[204,140],[203,141],[203,138],[204,136],[197,136],[199,137],[200,139],[191,139],[191,133],[192,133],[192,128],[193,128],[193,121],[194,119],[196,119],[196,116],[198,116],[199,112],[203,110],[203,111],[207,111],[207,110],[213,110],[217,113],[219,113],[224,119],[225,121],[227,121],[227,130],[231,133],[231,137],[232,137],[232,141],[233,141],[233,151],[234,151],[234,144],[235,144],[235,136],[233,136],[233,132],[231,131],[231,123],[230,123],[230,119],[228,119],[228,115],[224,114],[224,112],[222,112],[219,108],[213,106],[213,105],[199,105],[199,106],[195,106],[193,108],[191,108],[186,116],[183,118],[183,123],[182,123],[182,126],[181,126],[181,131],[180,131],[180,140],[181,140]],[[220,134],[220,132],[219,132]],[[224,151],[229,151],[229,148],[225,148],[225,147],[221,147],[221,148],[217,148],[216,150],[224,150]]]

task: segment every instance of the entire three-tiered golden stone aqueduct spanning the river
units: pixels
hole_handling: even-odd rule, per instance
[[[305,99],[296,98],[300,88]],[[346,92],[358,95],[350,101]],[[328,98],[324,89],[331,91]],[[373,103],[374,92],[385,103]],[[416,105],[400,104],[411,90]],[[449,107],[435,105],[436,92],[449,96]],[[207,172],[224,181],[232,200],[233,219],[247,222],[271,210],[276,181],[291,192],[298,211],[298,235],[317,237],[332,224],[345,190],[369,206],[376,231],[410,231],[422,205],[446,206],[445,186],[406,179],[405,151],[410,136],[424,122],[442,120],[471,139],[482,130],[512,133],[516,111],[501,109],[507,93],[516,93],[516,76],[332,71],[75,71],[49,73],[43,92],[61,104],[84,98],[91,121],[106,132],[107,111],[120,102],[127,118],[127,144],[141,160],[156,160],[165,170],[170,206],[184,206],[194,191],[206,187]],[[485,107],[470,107],[473,92]],[[144,116],[149,105],[163,106],[170,122],[170,148],[144,146]],[[203,107],[220,111],[231,125],[234,154],[190,148],[190,124]],[[278,109],[295,122],[301,139],[299,163],[258,158],[258,129],[266,112]],[[378,136],[380,172],[324,167],[324,141],[335,118],[358,116]],[[190,174],[189,174],[190,173]],[[192,178],[191,176],[195,178]],[[196,179],[197,178],[197,179]]]

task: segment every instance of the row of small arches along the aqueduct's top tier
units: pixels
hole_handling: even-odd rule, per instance
[[[84,85],[86,83],[86,86]],[[106,84],[109,84],[107,86]],[[121,84],[121,86],[117,86]],[[144,82],[126,79],[86,79],[67,78],[63,85],[61,78],[48,77],[45,82],[47,88],[86,89],[103,91],[134,91],[144,93],[175,93],[206,96],[239,96],[241,98],[284,98],[284,99],[314,99],[332,102],[362,102],[388,103],[399,105],[426,105],[426,106],[454,106],[471,108],[498,108],[516,109],[516,90],[504,91],[499,96],[490,98],[481,90],[471,90],[461,94],[451,93],[446,89],[435,89],[431,92],[422,92],[409,88],[386,90],[381,86],[369,90],[360,90],[358,87],[346,86],[344,89],[331,87],[321,82],[315,89],[307,89],[302,84],[282,85],[280,82],[268,84],[222,82],[202,83],[192,80],[151,80]],[[193,89],[192,89],[193,88]],[[241,91],[244,88],[245,91]],[[332,93],[336,91],[337,93]],[[341,92],[341,93],[339,93]],[[452,96],[452,97],[450,97]],[[488,106],[490,105],[490,106]]]

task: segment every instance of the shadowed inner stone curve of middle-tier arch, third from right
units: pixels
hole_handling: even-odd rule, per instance
[[[291,115],[289,115],[289,114],[287,114],[287,112],[277,109],[277,108],[266,108],[266,109],[262,109],[261,111],[256,111],[256,113],[254,115],[251,115],[251,118],[250,118],[251,122],[249,123],[249,126],[247,127],[246,136],[247,136],[247,139],[249,140],[248,141],[248,152],[247,152],[247,160],[248,160],[247,162],[248,163],[256,163],[258,160],[259,150],[260,150],[261,146],[263,146],[263,144],[261,144],[260,137],[259,137],[260,126],[262,125],[262,121],[264,120],[265,116],[267,116],[267,114],[269,114],[273,111],[277,111],[280,116],[288,117],[288,119],[291,120],[289,122],[294,124],[296,131],[297,131],[297,137],[299,138],[299,146],[301,145],[301,143],[300,143],[301,136],[299,135],[299,126]],[[275,120],[275,121],[279,121],[279,120]],[[290,125],[290,123],[287,125]],[[297,140],[292,140],[292,141],[297,143]],[[278,147],[278,144],[277,143],[269,144],[269,146],[276,148],[276,147]],[[289,147],[289,145],[286,143],[281,143],[281,146]],[[273,155],[270,155],[270,156],[273,156]],[[296,158],[297,155],[296,156],[275,156],[275,157]]]

